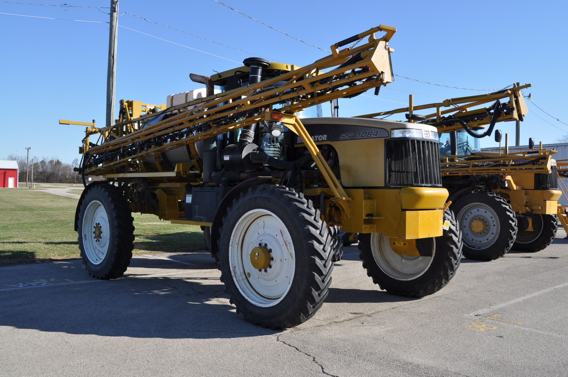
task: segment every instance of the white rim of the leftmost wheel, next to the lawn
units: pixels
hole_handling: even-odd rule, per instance
[[[100,233],[98,232],[100,230]],[[95,234],[95,232],[97,234]],[[98,265],[108,252],[110,230],[105,207],[98,200],[89,203],[83,215],[83,248],[89,262]]]

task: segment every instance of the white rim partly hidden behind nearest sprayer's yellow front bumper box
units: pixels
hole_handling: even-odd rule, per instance
[[[396,280],[412,280],[424,274],[436,254],[436,243],[432,238],[432,256],[416,257],[399,255],[392,251],[389,237],[383,233],[371,233],[371,253],[379,269]]]

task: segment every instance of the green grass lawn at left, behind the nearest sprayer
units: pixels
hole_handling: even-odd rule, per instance
[[[35,190],[0,190],[0,265],[79,258],[73,230],[78,199]],[[133,213],[135,254],[202,250],[203,232]]]

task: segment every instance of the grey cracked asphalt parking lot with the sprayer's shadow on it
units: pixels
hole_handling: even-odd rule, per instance
[[[244,322],[208,253],[137,255],[117,280],[81,261],[0,267],[2,375],[440,376],[568,374],[568,240],[462,259],[423,299],[379,291],[356,246],[315,317]]]

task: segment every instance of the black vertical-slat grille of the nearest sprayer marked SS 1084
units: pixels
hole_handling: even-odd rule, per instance
[[[386,186],[441,186],[438,143],[426,140],[386,141]]]

